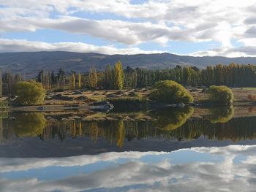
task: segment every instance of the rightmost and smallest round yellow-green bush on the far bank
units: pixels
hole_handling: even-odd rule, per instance
[[[232,104],[234,101],[232,90],[224,85],[211,85],[207,93],[210,94],[209,101],[216,104]]]

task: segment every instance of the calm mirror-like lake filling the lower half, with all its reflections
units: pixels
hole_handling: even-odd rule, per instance
[[[255,111],[1,112],[0,191],[255,191]]]

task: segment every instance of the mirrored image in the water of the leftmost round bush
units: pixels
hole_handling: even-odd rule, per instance
[[[42,134],[46,126],[45,116],[42,113],[20,113],[15,116],[15,134],[19,137],[35,137]]]

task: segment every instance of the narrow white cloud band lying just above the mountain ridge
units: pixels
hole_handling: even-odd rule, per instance
[[[96,46],[83,42],[31,42],[23,39],[0,39],[0,53],[6,52],[36,52],[36,51],[70,51],[79,53],[102,54],[138,54],[138,53],[162,53],[157,50],[140,50],[138,47],[116,48],[110,46]]]

